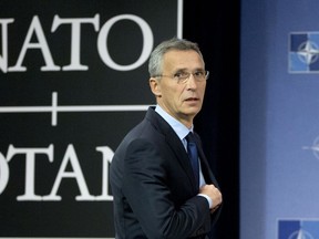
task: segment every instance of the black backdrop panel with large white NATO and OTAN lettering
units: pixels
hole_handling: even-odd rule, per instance
[[[114,237],[109,165],[182,1],[1,1],[0,237]]]

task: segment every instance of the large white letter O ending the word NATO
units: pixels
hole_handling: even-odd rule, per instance
[[[140,59],[130,64],[130,65],[120,65],[117,63],[115,63],[110,54],[109,54],[109,50],[107,50],[107,45],[106,45],[106,39],[109,35],[109,32],[112,28],[112,25],[120,21],[120,20],[132,20],[134,22],[136,22],[141,30],[142,30],[142,34],[143,34],[143,50],[141,53]],[[99,50],[99,54],[100,58],[102,59],[102,61],[109,65],[111,69],[117,70],[117,71],[131,71],[134,69],[137,69],[138,66],[141,66],[150,56],[152,49],[153,49],[153,33],[152,33],[152,29],[150,28],[150,25],[147,24],[147,22],[145,22],[142,18],[137,17],[137,15],[133,15],[133,14],[121,14],[117,17],[114,17],[112,19],[110,19],[102,28],[101,31],[99,33],[97,37],[97,50]]]

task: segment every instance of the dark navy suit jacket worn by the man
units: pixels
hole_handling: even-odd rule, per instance
[[[199,157],[206,183],[217,186],[202,147]],[[196,196],[187,153],[154,107],[120,144],[110,180],[117,239],[207,238],[219,215],[220,209],[212,215],[206,198]]]

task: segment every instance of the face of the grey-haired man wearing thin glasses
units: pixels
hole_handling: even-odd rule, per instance
[[[206,80],[196,81],[191,74],[186,82],[178,83],[174,75],[179,72],[195,73],[204,70],[204,62],[197,52],[173,50],[164,55],[163,76],[153,83],[151,79],[151,87],[157,103],[186,126],[192,125],[193,118],[202,108]]]

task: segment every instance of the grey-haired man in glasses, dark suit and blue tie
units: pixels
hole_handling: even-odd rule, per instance
[[[193,132],[208,77],[203,55],[196,43],[174,38],[152,52],[148,72],[156,106],[125,136],[111,163],[116,238],[209,238],[222,194]],[[195,173],[189,132],[197,145]]]

